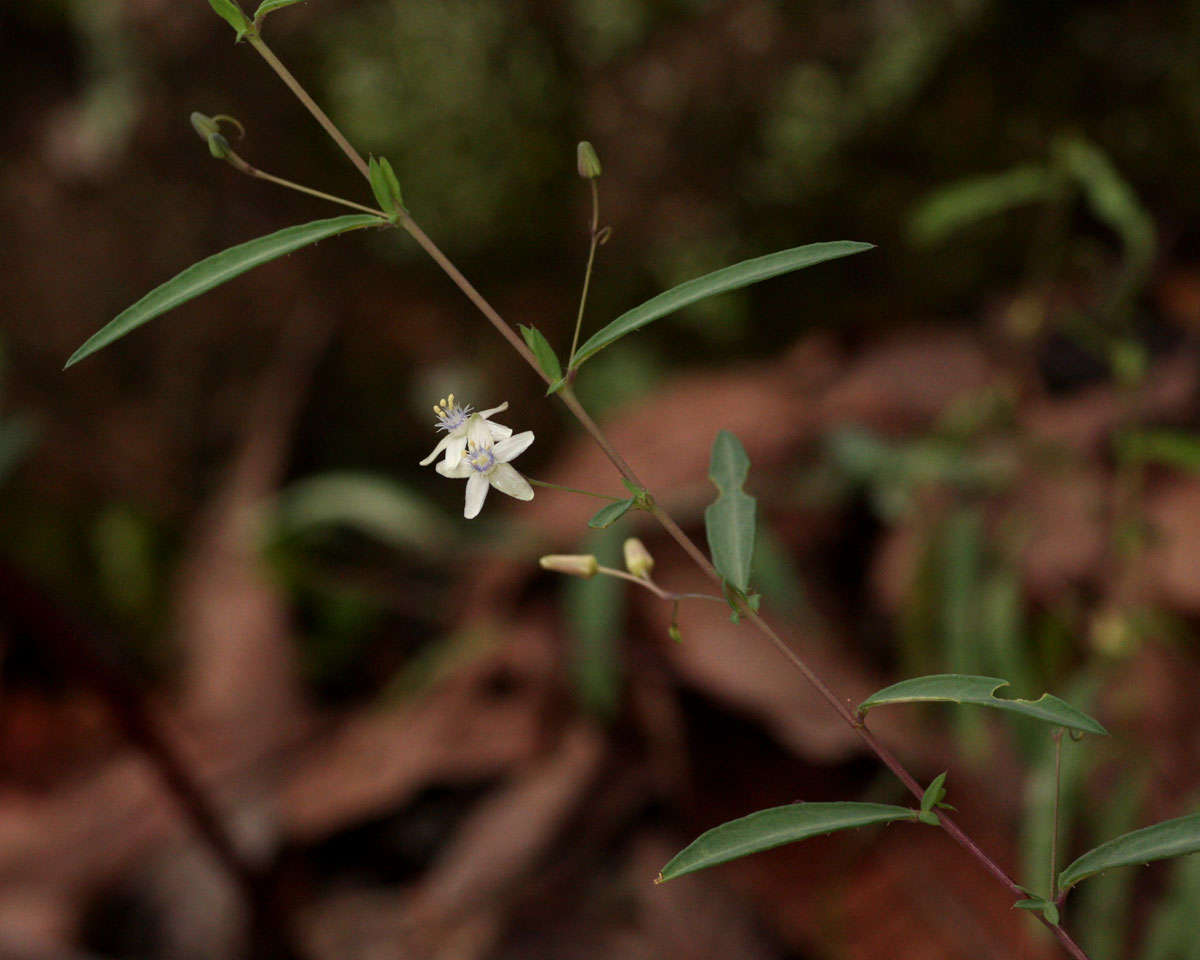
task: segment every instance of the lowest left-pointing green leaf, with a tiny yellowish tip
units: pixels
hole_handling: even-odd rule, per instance
[[[883,803],[793,803],[773,806],[702,833],[662,868],[655,883],[834,830],[916,818],[916,810]]]

